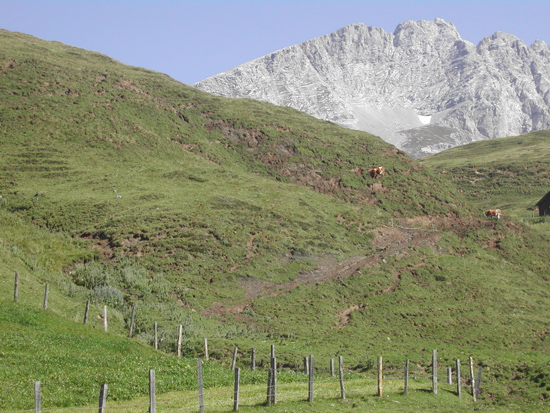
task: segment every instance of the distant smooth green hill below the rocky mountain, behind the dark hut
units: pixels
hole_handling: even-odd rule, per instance
[[[525,217],[550,190],[550,131],[475,142],[425,158],[481,211]],[[481,212],[480,211],[480,212]]]

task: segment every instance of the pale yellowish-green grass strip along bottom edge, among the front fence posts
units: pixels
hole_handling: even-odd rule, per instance
[[[242,412],[347,412],[347,411],[387,411],[387,412],[461,412],[476,409],[493,411],[526,411],[513,405],[490,406],[487,401],[474,403],[468,388],[462,388],[462,397],[457,395],[456,384],[439,384],[438,394],[432,393],[431,381],[410,380],[409,392],[403,395],[403,380],[392,379],[383,382],[383,397],[377,395],[375,378],[352,379],[345,381],[346,399],[341,398],[340,384],[336,377],[324,376],[314,384],[314,401],[308,402],[307,377],[302,382],[278,385],[277,404],[266,403],[265,385],[241,386],[239,411]],[[233,387],[216,387],[204,393],[205,411],[230,412],[234,406]],[[198,411],[197,390],[170,392],[156,397],[158,412]],[[96,409],[89,406],[89,410]],[[107,402],[107,409],[120,413],[146,412],[149,409],[149,397],[141,397],[126,402]],[[74,411],[82,411],[75,409]],[[51,410],[53,412],[71,412],[71,409]],[[533,406],[532,411],[537,411]]]

